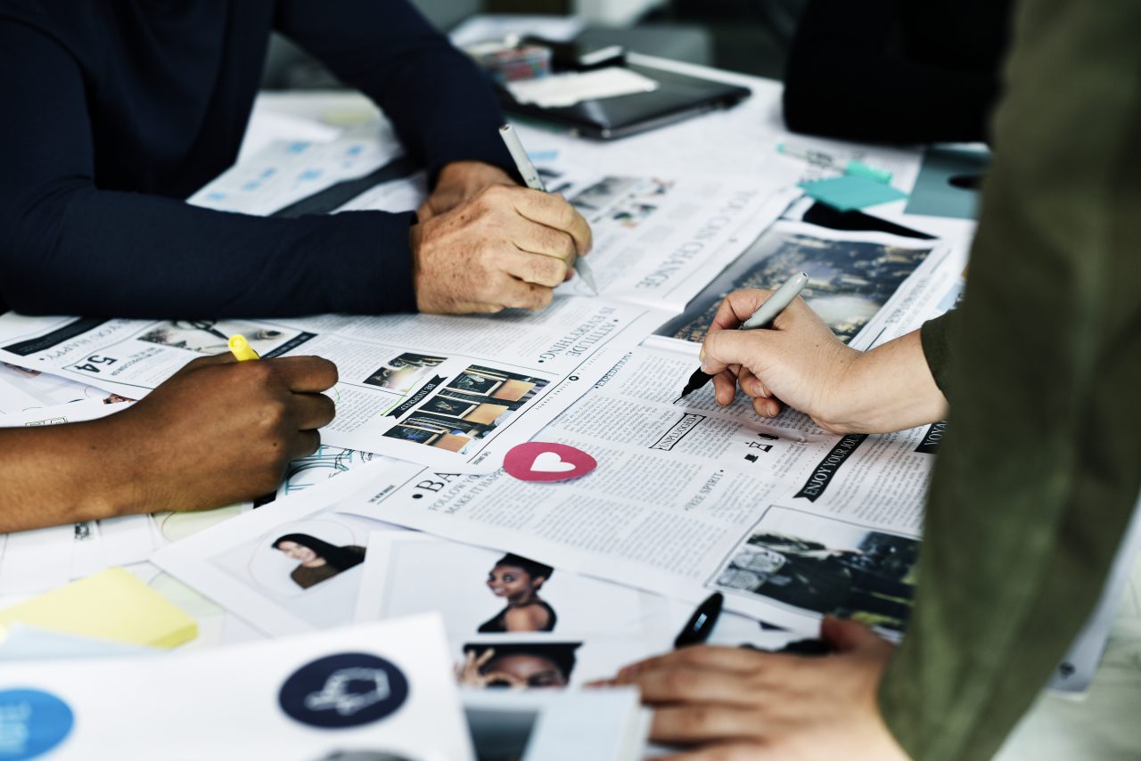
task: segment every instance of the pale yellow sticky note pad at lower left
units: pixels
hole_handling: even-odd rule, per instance
[[[16,621],[151,647],[175,647],[199,635],[194,618],[124,568],[108,568],[0,610],[0,625]]]

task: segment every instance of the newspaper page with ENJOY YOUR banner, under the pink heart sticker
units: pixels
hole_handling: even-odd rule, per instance
[[[806,634],[834,613],[898,635],[909,601],[879,605],[859,583],[909,592],[938,436],[841,437],[796,412],[762,421],[743,399],[717,407],[709,387],[674,405],[694,365],[639,348],[542,431],[591,454],[586,476],[397,467],[340,509],[693,602],[723,591],[728,609]]]

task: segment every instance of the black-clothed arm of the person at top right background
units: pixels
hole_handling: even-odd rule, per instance
[[[785,72],[796,132],[982,140],[1000,95],[1011,0],[811,0]]]

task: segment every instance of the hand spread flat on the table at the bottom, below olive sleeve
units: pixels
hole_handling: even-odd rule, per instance
[[[626,666],[653,706],[650,739],[691,746],[663,761],[907,759],[876,690],[895,647],[852,621],[825,618],[826,656],[689,647]]]

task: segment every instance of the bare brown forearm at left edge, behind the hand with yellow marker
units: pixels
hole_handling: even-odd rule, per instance
[[[0,429],[0,533],[143,511],[111,419]]]

